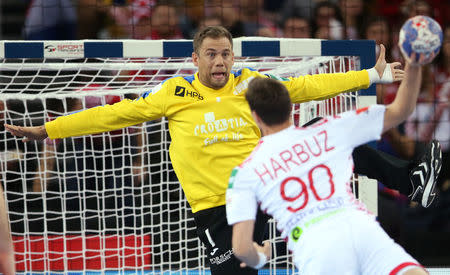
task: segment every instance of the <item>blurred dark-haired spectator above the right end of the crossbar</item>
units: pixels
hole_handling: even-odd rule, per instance
[[[343,39],[344,26],[339,7],[331,2],[323,1],[314,8],[312,33],[314,38]]]

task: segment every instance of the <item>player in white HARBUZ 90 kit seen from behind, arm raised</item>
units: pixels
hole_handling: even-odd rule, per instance
[[[263,137],[233,170],[226,195],[237,258],[255,269],[270,258],[269,245],[252,239],[259,206],[277,221],[302,274],[427,274],[383,231],[350,186],[353,149],[380,138],[415,108],[421,67],[406,64],[405,70],[392,104],[326,117],[305,128],[292,124],[285,86],[252,80],[245,97]],[[439,161],[435,166],[439,171]]]

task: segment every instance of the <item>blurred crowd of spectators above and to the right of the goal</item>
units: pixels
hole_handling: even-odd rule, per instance
[[[233,37],[371,39],[386,46],[388,61],[402,62],[397,46],[399,29],[415,15],[438,21],[444,42],[439,56],[423,69],[416,111],[386,133],[377,146],[404,159],[417,159],[424,144],[437,139],[443,165],[437,185],[439,199],[430,209],[411,205],[395,191],[380,186],[381,222],[385,220],[387,231],[401,239],[405,234],[398,231],[405,226],[450,232],[450,1],[32,0],[22,35],[26,40],[191,39],[199,28],[223,25]],[[378,103],[392,101],[397,88],[398,84],[378,85]],[[398,219],[398,215],[407,219]],[[408,248],[408,244],[402,245]]]

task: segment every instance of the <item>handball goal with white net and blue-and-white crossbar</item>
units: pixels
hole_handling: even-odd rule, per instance
[[[3,123],[39,126],[136,98],[174,75],[192,75],[189,43],[0,42],[0,178],[18,272],[208,274],[171,167],[166,119],[26,144],[3,129]],[[375,61],[370,41],[242,39],[234,50],[234,70],[252,67],[278,77],[359,70]],[[294,121],[302,125],[374,103],[373,91],[365,93],[369,96],[355,92],[295,106]],[[376,187],[360,194],[376,212]],[[271,237],[275,257],[260,274],[291,274],[274,226]]]

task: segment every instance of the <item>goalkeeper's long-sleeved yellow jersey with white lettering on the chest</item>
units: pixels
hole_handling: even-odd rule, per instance
[[[192,211],[197,212],[225,204],[231,171],[258,143],[261,133],[244,96],[255,77],[273,76],[244,68],[232,72],[227,84],[218,90],[200,83],[198,73],[172,77],[136,100],[61,116],[45,128],[49,137],[56,139],[167,117],[172,165]],[[369,86],[365,70],[277,79],[286,85],[295,103]]]

